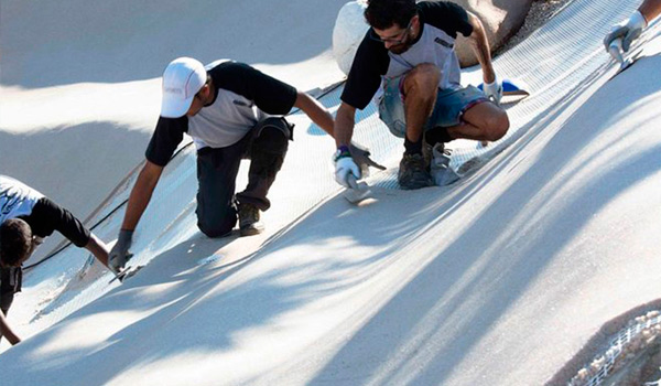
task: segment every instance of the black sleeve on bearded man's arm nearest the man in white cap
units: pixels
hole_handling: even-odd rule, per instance
[[[390,57],[381,42],[369,37],[369,31],[356,51],[342,101],[358,109],[367,107],[381,84],[381,75],[388,71]]]

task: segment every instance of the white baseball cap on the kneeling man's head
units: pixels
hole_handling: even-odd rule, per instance
[[[206,78],[204,65],[192,57],[177,57],[170,62],[163,72],[161,117],[183,117]]]

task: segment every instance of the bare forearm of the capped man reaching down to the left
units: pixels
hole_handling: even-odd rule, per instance
[[[138,181],[136,181],[133,190],[131,190],[127,213],[124,214],[124,219],[121,224],[122,229],[136,229],[140,217],[142,217],[147,205],[149,205],[149,202],[151,201],[152,193],[156,187],[156,183],[159,183],[161,173],[163,173],[163,167],[147,161],[142,171],[140,171],[140,175],[138,175]]]

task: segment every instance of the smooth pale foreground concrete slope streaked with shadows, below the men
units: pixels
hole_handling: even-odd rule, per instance
[[[661,299],[661,37],[646,55],[586,79],[457,185],[336,196],[204,265],[218,242],[174,240],[2,354],[3,380],[544,384],[602,324]]]

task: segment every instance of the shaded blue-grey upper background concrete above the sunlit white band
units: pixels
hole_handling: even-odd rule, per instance
[[[161,75],[172,58],[292,64],[328,50],[345,1],[2,2],[2,85],[40,88]]]

